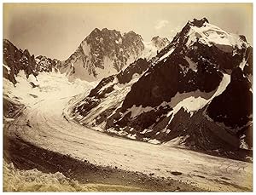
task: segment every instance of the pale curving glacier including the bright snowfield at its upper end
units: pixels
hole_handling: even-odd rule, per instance
[[[9,125],[9,136],[19,136],[35,146],[86,159],[96,165],[116,166],[147,175],[153,173],[205,190],[232,192],[253,189],[252,163],[114,137],[63,118],[63,109],[73,95],[89,93],[96,83],[69,83],[61,74],[45,73],[39,75],[38,84],[32,89],[28,83],[20,82],[14,88],[9,81],[4,81],[4,93],[26,105],[24,112]],[[172,171],[181,175],[172,175]],[[20,175],[19,180],[24,177],[26,175]]]

